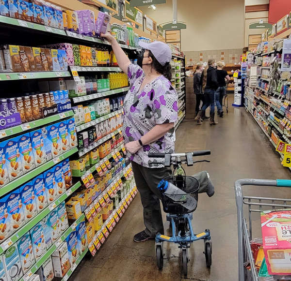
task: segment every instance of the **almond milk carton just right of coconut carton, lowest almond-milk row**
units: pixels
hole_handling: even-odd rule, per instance
[[[35,263],[34,254],[32,251],[32,240],[29,232],[23,235],[17,241],[17,247],[20,255],[20,263],[25,274],[28,269]]]

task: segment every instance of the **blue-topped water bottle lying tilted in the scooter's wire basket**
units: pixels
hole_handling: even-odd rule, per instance
[[[158,189],[167,197],[173,200],[174,204],[179,204],[188,210],[193,208],[193,205],[196,205],[196,200],[176,185],[168,182],[167,180],[162,179],[158,184]]]

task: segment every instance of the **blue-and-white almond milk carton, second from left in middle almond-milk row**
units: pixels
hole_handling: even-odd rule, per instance
[[[15,232],[19,227],[25,224],[22,202],[18,189],[10,192],[6,203],[11,231]]]

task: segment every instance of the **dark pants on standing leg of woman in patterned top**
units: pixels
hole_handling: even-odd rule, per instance
[[[146,234],[151,236],[155,236],[157,232],[163,234],[161,194],[157,185],[164,177],[172,175],[172,169],[170,167],[146,168],[133,161],[131,165],[144,207]]]

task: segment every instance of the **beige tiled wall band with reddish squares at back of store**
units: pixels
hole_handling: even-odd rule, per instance
[[[242,49],[208,50],[208,51],[185,51],[187,64],[208,61],[210,58],[222,60],[225,63],[239,63]]]

